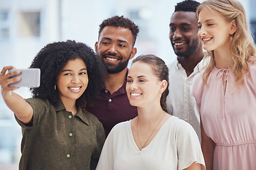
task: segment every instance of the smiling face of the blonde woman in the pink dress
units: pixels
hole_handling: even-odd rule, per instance
[[[203,8],[198,16],[198,37],[203,43],[203,49],[228,50],[230,33],[233,33],[231,25],[217,12]]]

